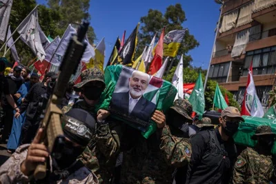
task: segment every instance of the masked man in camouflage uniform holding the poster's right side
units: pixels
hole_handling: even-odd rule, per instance
[[[190,140],[186,137],[187,123],[193,120],[190,118],[193,108],[186,99],[177,99],[170,110],[166,119],[168,125],[162,130],[161,134],[161,151],[166,156],[168,165],[177,167],[175,172],[175,182],[185,183],[186,170],[190,162],[192,148]]]

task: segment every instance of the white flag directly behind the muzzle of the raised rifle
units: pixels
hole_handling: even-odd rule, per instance
[[[71,38],[72,34],[75,34],[75,33],[77,33],[77,30],[75,30],[75,28],[73,28],[71,25],[69,25],[66,32],[63,34],[61,43],[59,45],[59,48],[57,49],[56,54],[59,54],[60,56],[63,57],[63,55],[66,52],[70,38]],[[83,61],[85,63],[89,63],[90,59],[95,57],[95,50],[92,47],[92,45],[90,45],[87,37],[85,39],[85,42],[88,43],[88,45],[86,47],[85,52],[83,53],[81,61]]]

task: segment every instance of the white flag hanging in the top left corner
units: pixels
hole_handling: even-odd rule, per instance
[[[0,1],[0,40],[1,41],[5,41],[11,10],[12,10],[12,0]]]

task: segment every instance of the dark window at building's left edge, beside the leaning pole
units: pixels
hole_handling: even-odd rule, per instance
[[[226,83],[230,62],[211,65],[209,70],[209,78],[218,83]]]

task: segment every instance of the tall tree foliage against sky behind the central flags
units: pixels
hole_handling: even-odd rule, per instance
[[[181,4],[177,3],[175,6],[168,6],[164,14],[159,10],[150,9],[148,10],[148,14],[146,16],[141,17],[140,21],[141,28],[138,34],[139,43],[137,45],[136,57],[139,57],[145,46],[150,44],[150,41],[155,33],[157,33],[157,37],[160,36],[161,30],[164,26],[166,26],[165,34],[171,30],[183,30],[185,28],[183,23],[186,21],[186,14],[182,9]],[[177,57],[172,59],[174,65],[177,65],[181,54],[184,54],[184,67],[187,67],[190,61],[193,61],[188,52],[197,46],[199,46],[199,42],[192,34],[190,34],[189,30],[187,30],[184,40],[179,48]]]

